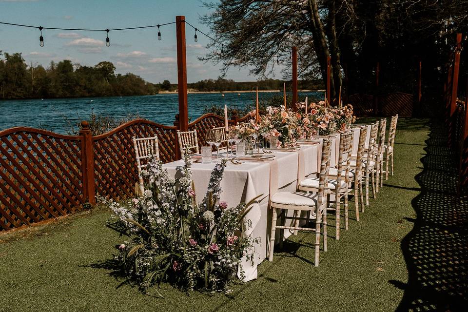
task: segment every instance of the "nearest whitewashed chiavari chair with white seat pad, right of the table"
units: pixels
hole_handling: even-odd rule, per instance
[[[273,209],[272,217],[272,231],[270,236],[270,251],[268,259],[273,261],[273,248],[276,229],[294,230],[294,231],[308,231],[315,232],[315,262],[317,267],[319,264],[320,253],[320,224],[322,223],[322,212],[327,209],[327,193],[328,193],[328,172],[330,170],[331,158],[331,140],[324,139],[322,146],[322,161],[320,165],[320,179],[318,192],[304,193],[304,192],[279,192],[272,196],[270,206]],[[277,212],[280,209],[280,225],[276,225]],[[312,212],[315,209],[315,228],[303,228],[299,226],[285,226],[285,219],[293,220],[307,220],[310,221],[313,215],[307,218],[298,216],[287,216],[287,210],[298,210]],[[280,245],[282,245],[284,236],[280,234]],[[323,250],[327,251],[327,213],[323,214]]]

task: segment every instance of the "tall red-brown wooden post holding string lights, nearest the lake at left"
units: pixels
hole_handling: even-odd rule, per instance
[[[177,91],[179,94],[179,129],[189,130],[187,103],[187,56],[185,51],[185,16],[176,16]]]

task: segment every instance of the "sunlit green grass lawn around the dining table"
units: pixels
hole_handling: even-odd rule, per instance
[[[368,121],[368,120],[360,120]],[[350,230],[334,237],[329,217],[328,252],[313,266],[314,234],[292,236],[258,279],[234,292],[185,293],[162,285],[166,299],[125,283],[112,263],[124,240],[105,226],[110,211],[96,209],[52,224],[0,235],[0,311],[393,311],[407,283],[401,240],[416,218],[411,200],[428,138],[427,119],[398,120],[395,175]],[[352,202],[352,201],[350,201]],[[344,221],[342,221],[344,225]]]

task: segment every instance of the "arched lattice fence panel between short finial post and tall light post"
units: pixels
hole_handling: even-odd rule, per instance
[[[96,193],[115,200],[134,195],[137,167],[132,137],[158,137],[162,162],[176,160],[176,127],[148,120],[127,122],[106,134],[93,137]]]

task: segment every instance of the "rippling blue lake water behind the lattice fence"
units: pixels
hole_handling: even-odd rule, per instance
[[[280,92],[259,93],[260,101]],[[299,93],[299,96],[323,98],[323,92]],[[244,108],[254,103],[255,93],[196,93],[188,95],[189,118],[191,121],[203,114],[207,106],[219,105]],[[0,130],[27,126],[43,128],[52,132],[67,134],[70,130],[66,118],[73,124],[87,119],[94,112],[99,115],[120,118],[138,114],[149,120],[173,125],[178,113],[177,94],[155,96],[110,97],[110,98],[60,98],[0,101]]]

